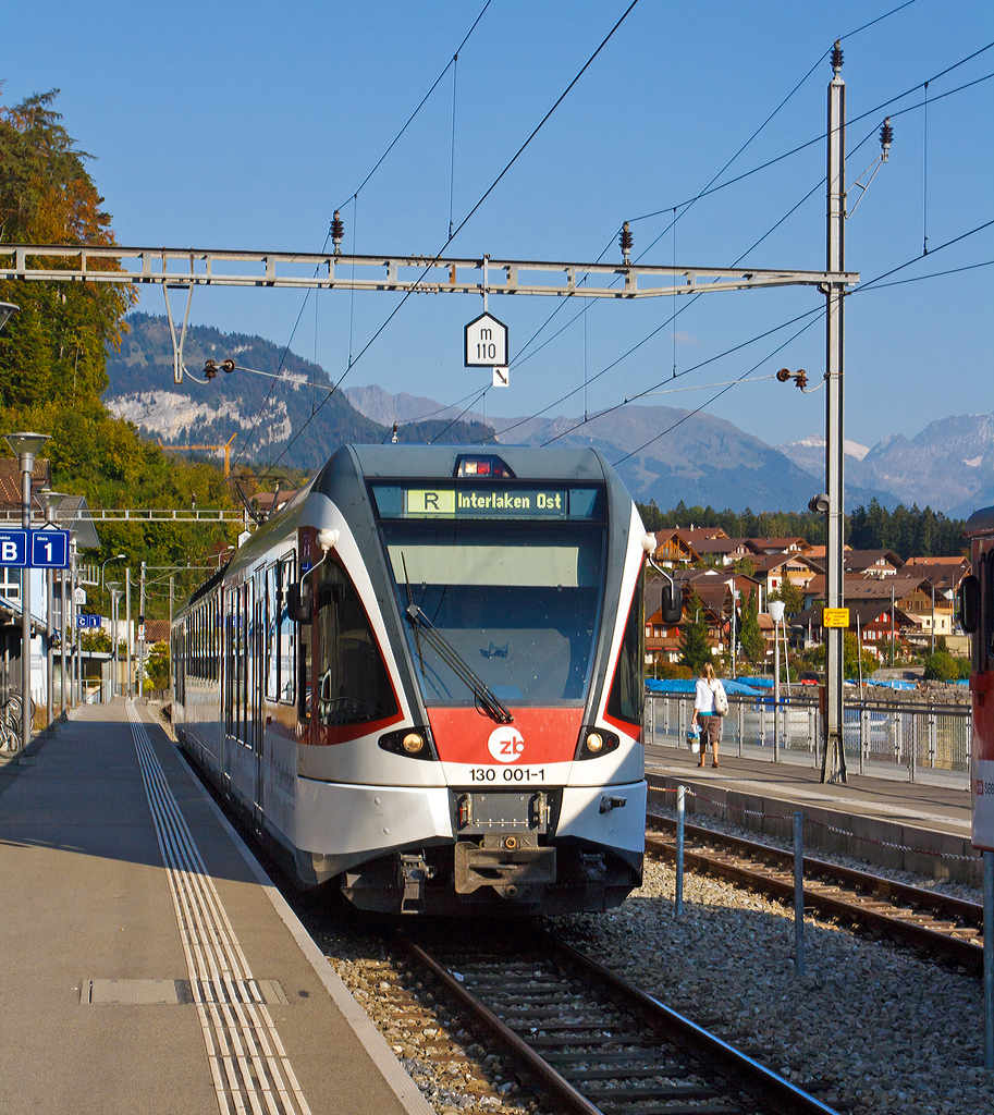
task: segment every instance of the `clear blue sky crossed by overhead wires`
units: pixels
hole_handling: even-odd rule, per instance
[[[343,250],[431,254],[447,237],[450,173],[458,224],[627,8],[627,0],[493,0],[459,54],[455,148],[449,69],[353,198],[484,2],[7,0],[2,98],[10,105],[61,89],[57,108],[97,156],[90,172],[121,244],[320,251],[341,207]],[[937,251],[994,220],[994,79],[978,81],[994,74],[994,49],[938,76],[994,42],[994,6],[915,0],[858,31],[899,3],[641,0],[448,253],[592,261],[606,248],[604,258],[617,261],[621,223],[669,210],[632,224],[643,262],[824,269],[820,140],[701,198],[665,230],[674,206],[695,197],[785,98],[718,184],[822,135],[831,69],[818,60],[844,36],[850,210],[859,194],[851,183],[876,157],[888,113],[895,133],[889,163],[847,222],[848,269],[871,280],[919,255],[925,235],[929,255],[887,281],[994,260],[994,226]],[[848,438],[873,445],[886,434],[914,436],[937,417],[990,413],[992,290],[994,268],[981,266],[848,299]],[[358,353],[397,301],[312,295],[292,348],[338,378],[350,346]],[[753,366],[757,377],[785,365],[815,381],[824,371],[820,320],[776,355],[793,329],[689,370],[824,304],[810,289],[676,301],[675,324],[670,298],[571,301],[539,340],[583,306],[588,312],[523,360],[523,346],[559,301],[491,299],[510,330],[511,386],[478,409],[533,414],[578,388],[549,413],[593,413],[665,380],[674,361],[679,387],[734,379]],[[201,289],[192,320],[284,345],[301,302],[284,291]],[[146,289],[140,309],[162,313],[160,289]],[[345,385],[444,403],[481,388],[489,374],[461,366],[462,324],[479,311],[472,297],[409,299]],[[653,330],[584,390],[585,378]],[[715,390],[645,401],[696,407]],[[761,380],[706,409],[776,445],[822,433],[824,397]]]

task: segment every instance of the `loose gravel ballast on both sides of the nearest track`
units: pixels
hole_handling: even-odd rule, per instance
[[[554,919],[552,928],[799,1087],[812,1085],[830,1107],[852,1115],[994,1112],[980,979],[813,918],[805,925],[806,975],[796,979],[792,909],[688,874],[676,918],[674,893],[673,867],[646,860],[643,885],[623,906]],[[354,938],[344,951],[333,934],[323,943],[339,975],[361,991],[363,1009],[417,1066],[415,1078],[440,1115],[536,1109],[516,1088],[499,1104],[480,1103],[459,1087],[451,1065],[418,1056],[417,1032],[401,1036],[396,1019],[378,1012],[371,977],[390,962],[379,946],[363,956]],[[459,1037],[477,1051],[469,1035]]]

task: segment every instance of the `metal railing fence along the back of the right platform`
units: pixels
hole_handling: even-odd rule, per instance
[[[646,744],[686,747],[694,699],[646,694]],[[818,701],[729,697],[721,747],[746,758],[817,766],[822,757]],[[907,782],[969,785],[973,712],[966,706],[908,701],[851,701],[845,707],[844,746],[849,770]]]

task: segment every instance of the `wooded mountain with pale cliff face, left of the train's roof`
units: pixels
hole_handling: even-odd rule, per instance
[[[189,327],[183,353],[188,374],[182,385],[175,385],[166,318],[133,313],[127,320],[130,328],[120,351],[107,353],[109,382],[104,401],[113,414],[164,445],[221,447],[234,435],[233,462],[269,464],[281,457],[306,425],[306,433],[280,463],[284,468],[316,469],[340,445],[378,443],[390,436],[389,426],[357,410],[343,391],[329,398],[331,385],[321,367],[261,337]],[[238,369],[204,379],[207,360],[221,363],[226,359]],[[458,444],[489,433],[460,421],[442,434],[446,425],[438,419],[407,426],[401,440],[427,442],[441,435],[447,443]]]

